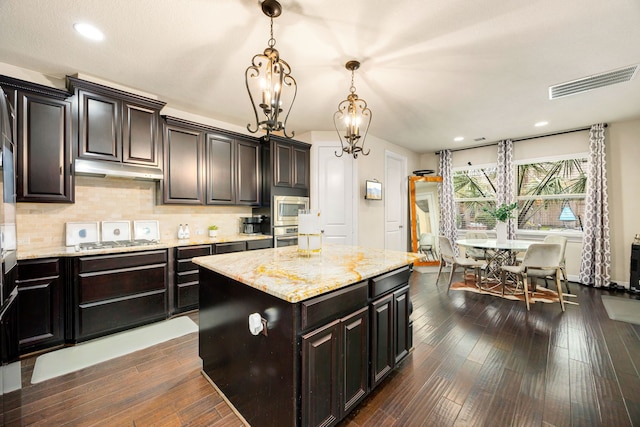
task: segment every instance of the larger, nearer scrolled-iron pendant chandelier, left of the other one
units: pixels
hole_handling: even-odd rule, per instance
[[[286,126],[298,87],[291,76],[291,67],[280,58],[275,48],[276,39],[273,37],[273,18],[280,16],[282,7],[276,0],[265,0],[262,12],[271,19],[271,38],[264,53],[255,55],[245,71],[247,92],[255,114],[255,125],[252,127],[249,123],[247,130],[251,133],[258,129],[266,131],[266,140],[272,132],[282,132],[285,137],[292,138],[295,133],[287,134]]]

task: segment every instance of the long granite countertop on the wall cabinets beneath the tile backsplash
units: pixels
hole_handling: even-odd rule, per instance
[[[51,246],[51,247],[35,247],[28,246],[26,248],[18,248],[18,260],[50,258],[50,257],[73,257],[84,255],[105,255],[126,252],[151,251],[154,249],[174,248],[177,246],[193,246],[207,245],[212,243],[228,243],[241,242],[248,240],[264,240],[271,239],[272,236],[266,234],[230,234],[218,237],[209,237],[208,235],[193,236],[189,239],[171,239],[163,240],[154,245],[145,246],[128,246],[120,248],[103,248],[92,249],[88,251],[76,251],[73,246]]]

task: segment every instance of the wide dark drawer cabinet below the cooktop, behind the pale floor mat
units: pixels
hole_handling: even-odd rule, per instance
[[[167,318],[167,250],[75,258],[74,340]]]

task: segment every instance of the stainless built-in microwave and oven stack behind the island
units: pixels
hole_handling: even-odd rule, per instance
[[[298,244],[298,211],[309,209],[309,198],[298,196],[273,196],[273,246]]]

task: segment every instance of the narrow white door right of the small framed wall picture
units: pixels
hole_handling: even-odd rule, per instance
[[[384,248],[407,251],[407,159],[385,152]]]

